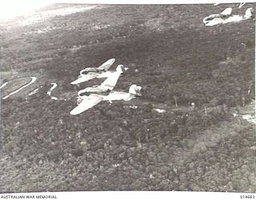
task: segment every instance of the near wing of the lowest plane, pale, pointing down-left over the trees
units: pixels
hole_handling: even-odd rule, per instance
[[[84,98],[84,96],[83,96]],[[102,97],[90,94],[87,98],[84,98],[81,103],[78,104],[73,110],[70,111],[70,114],[76,115],[81,114],[82,112],[90,109],[93,106],[96,106],[99,102],[102,102]]]

